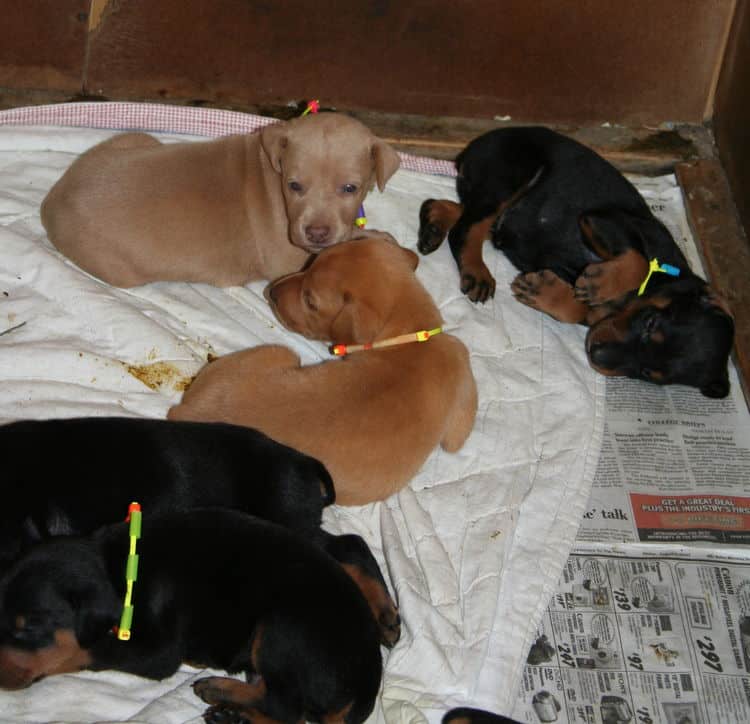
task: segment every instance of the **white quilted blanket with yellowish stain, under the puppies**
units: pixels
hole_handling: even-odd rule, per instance
[[[282,343],[305,363],[326,359],[322,344],[279,327],[261,283],[124,291],[50,245],[41,200],[76,154],[112,133],[0,128],[0,333],[10,330],[0,336],[0,421],[164,417],[208,353]],[[428,197],[454,197],[453,179],[401,170],[368,197],[368,225],[415,248]],[[457,705],[510,710],[593,478],[604,388],[586,363],[584,330],[516,303],[511,265],[490,248],[485,259],[498,285],[483,306],[460,293],[447,245],[418,268],[471,351],[479,412],[468,443],[455,455],[435,451],[386,502],[325,515],[330,530],[371,544],[404,621],[372,721],[437,721]],[[106,495],[106,470],[101,486]],[[0,721],[199,722],[204,705],[190,683],[200,675],[186,666],[162,682],[112,672],[53,677],[0,692]]]

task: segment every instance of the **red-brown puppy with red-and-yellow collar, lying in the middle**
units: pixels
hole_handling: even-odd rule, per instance
[[[417,260],[387,234],[368,233],[321,252],[267,296],[279,320],[310,339],[414,339],[442,324],[414,274]],[[358,505],[408,483],[435,446],[458,450],[476,407],[468,352],[439,333],[306,367],[286,347],[236,352],[204,367],[169,417],[257,427],[318,457],[336,502]]]

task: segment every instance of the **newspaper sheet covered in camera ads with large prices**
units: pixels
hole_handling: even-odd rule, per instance
[[[750,721],[750,567],[573,554],[539,627],[523,722]]]

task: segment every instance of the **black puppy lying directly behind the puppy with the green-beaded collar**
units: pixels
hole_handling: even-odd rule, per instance
[[[0,460],[0,573],[34,542],[122,520],[134,500],[149,515],[233,508],[298,530],[326,550],[361,586],[383,643],[399,638],[398,610],[365,542],[320,528],[323,508],[335,500],[325,466],[257,430],[114,417],[29,420],[0,426]]]

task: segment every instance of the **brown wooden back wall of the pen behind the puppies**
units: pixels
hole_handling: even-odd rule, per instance
[[[557,124],[710,117],[735,0],[0,0],[0,94]]]

